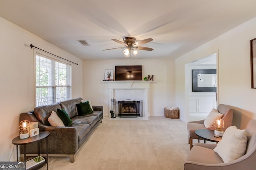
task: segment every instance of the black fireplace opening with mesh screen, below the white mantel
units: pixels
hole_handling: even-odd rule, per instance
[[[112,100],[116,117],[142,117],[142,101],[135,100]]]

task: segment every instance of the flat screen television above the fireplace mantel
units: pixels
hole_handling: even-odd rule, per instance
[[[141,65],[116,65],[115,80],[142,80]]]

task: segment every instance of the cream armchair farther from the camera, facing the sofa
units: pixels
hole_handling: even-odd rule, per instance
[[[233,109],[231,109],[228,105],[220,104],[218,105],[217,111],[223,114],[221,119],[224,120],[224,123],[225,123],[224,130],[226,130],[226,128],[232,125]],[[204,126],[204,120],[200,120],[200,121],[188,122],[187,129],[188,129],[188,143],[190,144],[190,150],[191,150],[191,148],[193,147],[193,139],[198,139],[198,136],[195,134],[195,130],[197,129],[214,130],[215,127],[212,126],[212,127],[206,128]]]

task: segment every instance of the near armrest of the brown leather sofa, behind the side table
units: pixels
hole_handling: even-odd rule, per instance
[[[78,134],[76,127],[52,127],[39,125],[42,131],[49,131],[49,152],[57,154],[76,154],[78,150]]]

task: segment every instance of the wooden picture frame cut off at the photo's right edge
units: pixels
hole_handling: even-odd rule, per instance
[[[251,88],[256,89],[256,38],[250,40]]]

